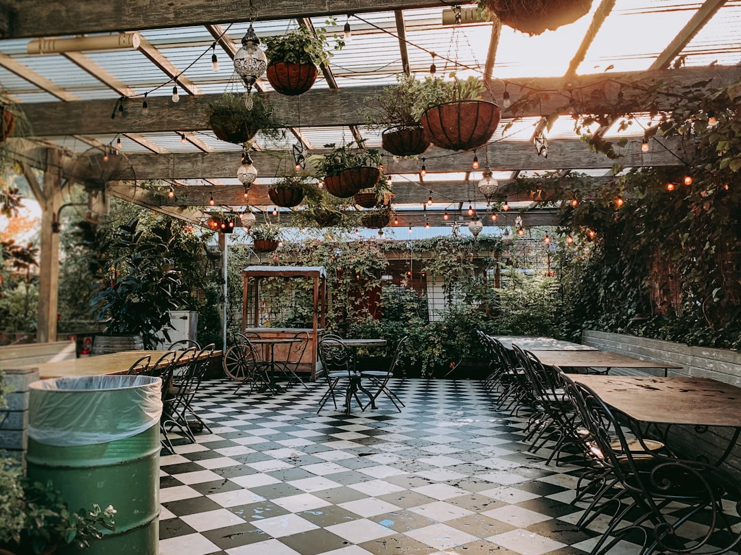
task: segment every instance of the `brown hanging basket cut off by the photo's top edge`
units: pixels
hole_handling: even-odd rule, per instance
[[[485,6],[503,24],[522,33],[539,35],[585,16],[592,0],[486,0]]]

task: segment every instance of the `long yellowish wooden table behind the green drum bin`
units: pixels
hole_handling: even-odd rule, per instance
[[[118,353],[99,354],[95,357],[76,358],[73,360],[59,360],[55,363],[43,363],[22,366],[22,369],[33,369],[39,371],[42,380],[52,377],[82,377],[102,376],[104,374],[125,374],[129,367],[141,357],[150,356],[151,362],[155,363],[168,351],[121,351]],[[222,351],[213,351],[213,356],[219,356]],[[205,356],[205,355],[204,355]],[[192,357],[181,360],[187,363]]]

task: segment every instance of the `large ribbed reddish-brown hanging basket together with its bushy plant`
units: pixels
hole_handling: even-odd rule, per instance
[[[450,150],[470,150],[485,145],[494,135],[502,115],[494,102],[483,100],[485,84],[470,76],[451,81],[425,77],[413,90],[413,114],[432,144]]]

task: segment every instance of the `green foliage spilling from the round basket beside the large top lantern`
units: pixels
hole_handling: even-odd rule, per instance
[[[335,24],[333,19],[327,25]],[[342,50],[345,41],[341,36],[333,35],[333,50]],[[329,48],[327,29],[317,27],[313,32],[308,27],[299,25],[284,35],[268,36],[262,39],[265,43],[265,55],[268,63],[285,61],[293,64],[321,65],[329,60],[332,53]]]

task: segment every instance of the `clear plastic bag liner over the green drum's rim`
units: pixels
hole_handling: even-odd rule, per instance
[[[150,376],[86,376],[29,386],[28,435],[47,445],[122,440],[159,423],[162,380]]]

